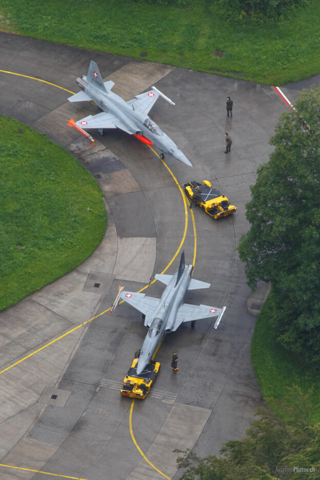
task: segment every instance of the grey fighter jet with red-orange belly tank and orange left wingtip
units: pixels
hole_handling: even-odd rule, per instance
[[[136,95],[129,102],[125,102],[123,98],[111,91],[114,82],[103,82],[98,66],[93,60],[90,62],[87,76],[76,78],[76,83],[82,91],[69,97],[69,102],[93,101],[102,110],[101,113],[88,115],[78,122],[73,118],[68,122],[70,127],[77,128],[90,138],[92,145],[94,140],[86,130],[97,129],[103,135],[104,129],[118,128],[134,135],[147,145],[155,144],[161,150],[162,158],[167,154],[192,167],[185,154],[148,116],[159,96],[175,105],[157,88],[151,87],[152,90],[149,92]]]

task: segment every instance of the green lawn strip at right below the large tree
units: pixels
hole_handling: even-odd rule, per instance
[[[287,387],[297,385],[304,393],[313,387],[313,404],[320,403],[320,377],[301,359],[276,342],[269,327],[268,299],[254,329],[251,358],[259,386],[267,402],[268,397],[281,402],[288,392]],[[279,408],[281,409],[281,406]],[[320,421],[320,411],[314,416],[313,421]]]

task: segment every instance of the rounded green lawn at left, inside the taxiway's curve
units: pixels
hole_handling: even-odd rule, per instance
[[[106,230],[103,193],[63,148],[0,116],[0,310],[77,267]]]

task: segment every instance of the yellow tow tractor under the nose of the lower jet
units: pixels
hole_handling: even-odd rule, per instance
[[[134,358],[131,368],[124,378],[124,384],[120,393],[131,398],[146,398],[150,392],[150,388],[158,374],[160,364],[159,362],[151,361],[145,367],[142,373],[137,375],[136,366],[138,358]]]

